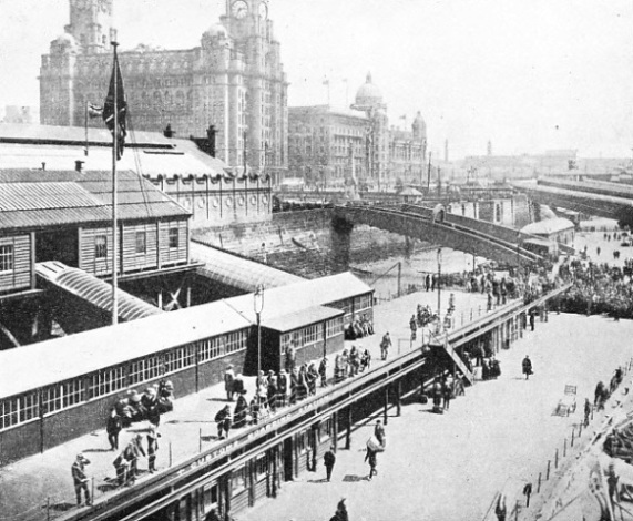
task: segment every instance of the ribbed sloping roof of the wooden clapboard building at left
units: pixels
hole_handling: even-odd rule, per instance
[[[134,172],[118,175],[121,221],[191,213]],[[0,226],[29,228],[112,219],[112,173],[0,170]]]

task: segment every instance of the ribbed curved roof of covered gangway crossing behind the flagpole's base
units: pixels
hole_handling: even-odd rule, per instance
[[[94,306],[112,313],[112,285],[93,275],[50,260],[35,264],[35,273],[51,284],[69,292]],[[162,309],[123,290],[118,292],[119,317],[123,321],[136,320],[163,313]]]

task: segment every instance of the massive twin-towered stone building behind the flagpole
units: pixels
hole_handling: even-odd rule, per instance
[[[113,0],[70,0],[70,24],[51,42],[40,72],[41,123],[83,126],[86,106],[108,91],[115,38]],[[266,0],[227,0],[201,45],[162,50],[139,45],[119,61],[134,130],[176,137],[217,130],[217,156],[257,171],[287,165],[287,81]],[[93,120],[89,124],[102,125]]]

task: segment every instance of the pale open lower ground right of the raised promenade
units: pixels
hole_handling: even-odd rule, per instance
[[[502,375],[477,382],[445,415],[406,405],[390,417],[387,450],[378,477],[368,481],[365,441],[371,423],[353,435],[351,450],[339,450],[331,482],[325,468],[284,483],[280,496],[238,515],[239,521],[328,520],[341,497],[350,519],[481,520],[497,491],[509,483],[535,482],[547,461],[562,453],[598,380],[609,380],[633,355],[633,321],[550,315],[535,331],[499,354]],[[521,359],[530,355],[534,375],[525,381]],[[578,386],[578,411],[554,415],[565,384]],[[591,429],[590,429],[591,430]],[[583,435],[589,436],[589,435]]]

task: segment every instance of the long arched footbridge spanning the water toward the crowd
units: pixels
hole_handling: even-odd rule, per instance
[[[399,208],[369,205],[335,206],[335,216],[349,224],[366,224],[503,264],[534,264],[542,257],[523,247],[537,237],[506,226],[447,213],[442,207],[404,204]]]

